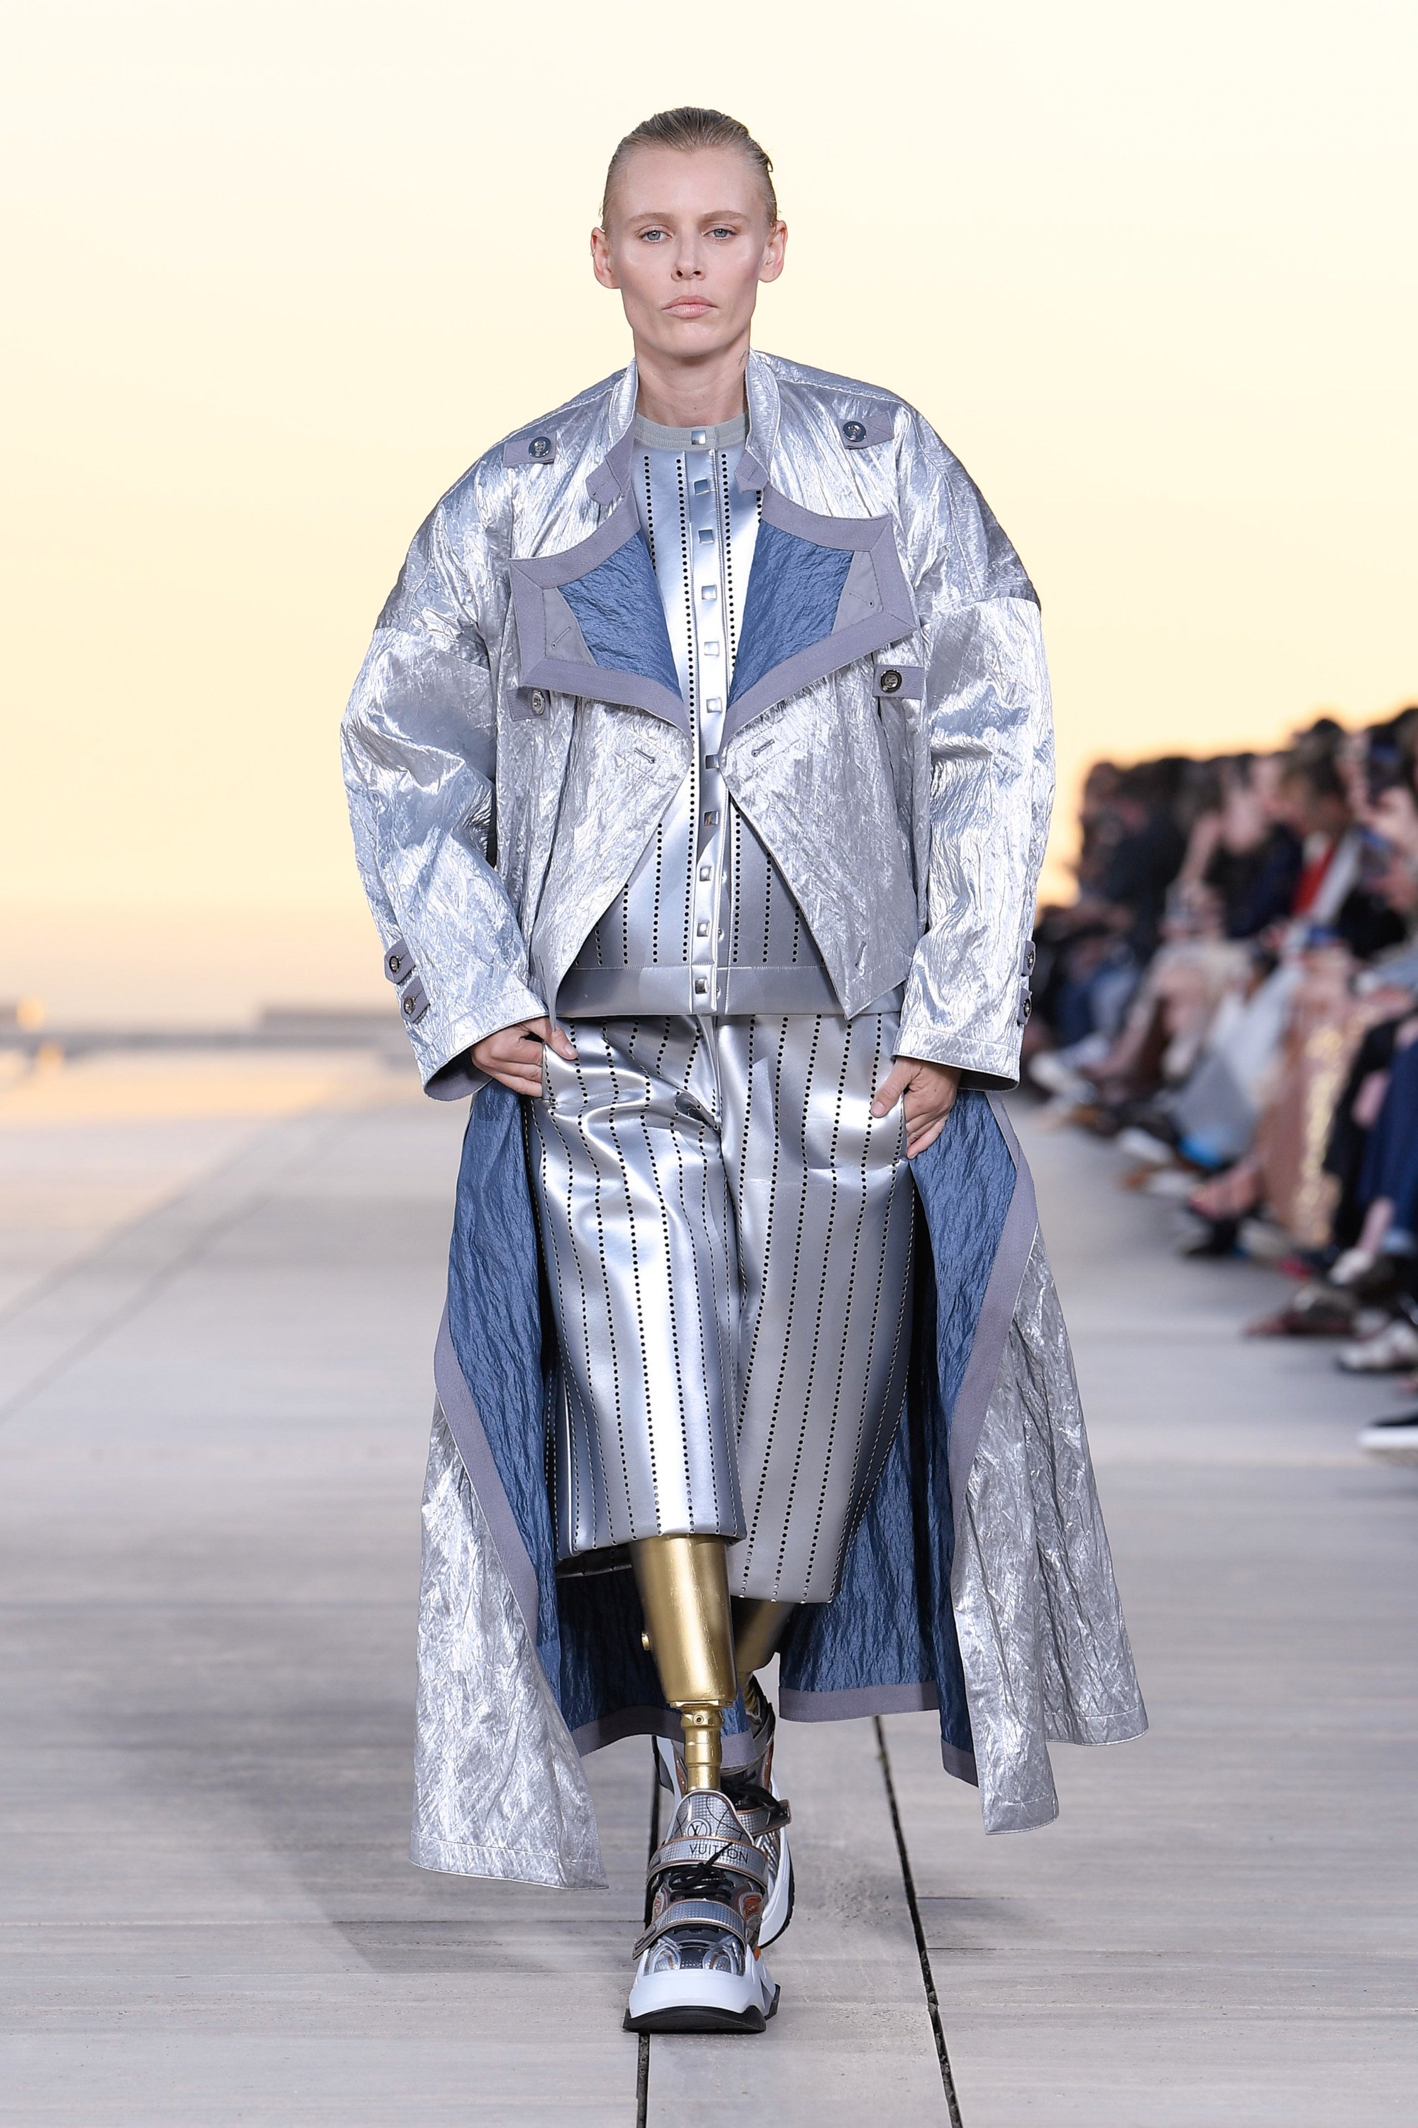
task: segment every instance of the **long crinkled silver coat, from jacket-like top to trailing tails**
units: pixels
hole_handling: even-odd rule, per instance
[[[478,1090],[468,1049],[483,1034],[555,1009],[689,766],[682,702],[644,636],[634,581],[634,404],[631,366],[489,451],[444,496],[344,719],[385,968],[440,1098]],[[784,872],[842,1009],[904,983],[899,1053],[957,1064],[967,1085],[1010,1085],[1052,794],[1037,602],[969,477],[901,400],[753,355],[748,415],[740,479],[763,489],[772,534],[755,572],[776,553],[778,577],[757,662],[740,641],[725,783]],[[655,617],[663,628],[657,602]],[[489,1090],[487,1143],[510,1128],[500,1098]],[[950,1249],[980,1256],[969,1196],[980,1166],[961,1134],[993,1149],[995,1168],[1008,1141],[1018,1170],[948,1413],[948,1607],[969,1743],[946,1739],[942,1758],[980,1783],[993,1832],[1057,1813],[1048,1739],[1114,1743],[1146,1715],[1029,1175],[1008,1119],[991,1138],[984,1109],[965,1107],[950,1126],[955,1168],[938,1143],[918,1173],[942,1277],[959,1283]],[[506,1390],[517,1373],[497,1343],[508,1321],[531,1324],[517,1379],[536,1375],[529,1209],[525,1247],[508,1253],[506,1213],[525,1196],[519,1151],[500,1175],[487,1238],[468,1245],[500,1292],[483,1404],[449,1330],[455,1281],[434,1368],[412,1856],[587,1885],[604,1873],[578,1753],[661,1715],[568,1724],[538,1653],[529,1496],[508,1498],[517,1458],[506,1460],[506,1415],[493,1409],[497,1381]],[[474,1211],[476,1192],[466,1198],[459,1181],[457,1224],[470,1232]],[[536,1394],[506,1409],[531,1413]],[[536,1473],[540,1443],[514,1424],[512,1447]],[[931,1694],[912,1685],[835,1690],[827,1677],[784,1690],[782,1711],[833,1719],[925,1705]]]

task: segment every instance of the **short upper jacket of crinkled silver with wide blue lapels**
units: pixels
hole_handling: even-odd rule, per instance
[[[691,762],[629,496],[636,366],[457,481],[344,717],[366,892],[423,1081],[565,970]],[[761,532],[725,785],[846,1015],[906,983],[899,1053],[1012,1085],[1052,798],[1037,600],[969,475],[891,392],[753,353]]]

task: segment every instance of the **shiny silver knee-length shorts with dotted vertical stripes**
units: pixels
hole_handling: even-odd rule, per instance
[[[529,1104],[565,1402],[561,1556],[736,1539],[831,1602],[906,1400],[914,1185],[872,1117],[895,1021],[578,1021]]]

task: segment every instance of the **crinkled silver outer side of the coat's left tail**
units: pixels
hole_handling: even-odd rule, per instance
[[[440,1409],[423,1487],[410,1856],[459,1877],[606,1883],[576,1745]]]

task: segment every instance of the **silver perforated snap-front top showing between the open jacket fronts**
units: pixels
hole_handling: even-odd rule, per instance
[[[617,970],[657,968],[659,1013],[733,1009],[729,968],[757,968],[753,1011],[833,1013],[838,1000],[787,881],[719,768],[738,624],[759,536],[759,496],[736,485],[746,421],[672,430],[636,421],[634,494],[693,760],[625,887],[580,947],[561,1017],[644,1011]]]

